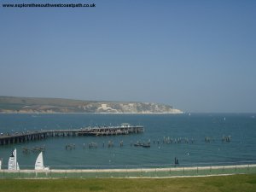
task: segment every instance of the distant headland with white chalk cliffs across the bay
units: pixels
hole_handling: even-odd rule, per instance
[[[0,96],[0,113],[183,113],[152,102],[95,102],[59,98]]]

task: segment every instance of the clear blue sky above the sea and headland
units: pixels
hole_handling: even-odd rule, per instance
[[[256,113],[256,1],[63,2],[0,1],[0,96]]]

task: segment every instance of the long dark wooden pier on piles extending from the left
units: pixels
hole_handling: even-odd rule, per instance
[[[15,134],[3,134],[0,136],[0,145],[12,143],[26,143],[29,141],[41,140],[48,137],[72,137],[72,136],[114,136],[141,133],[144,127],[140,125],[120,125],[87,127],[70,130],[41,130],[16,132]]]

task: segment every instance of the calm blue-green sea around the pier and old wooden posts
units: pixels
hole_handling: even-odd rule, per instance
[[[44,146],[44,166],[50,169],[214,166],[256,163],[256,113],[1,113],[0,133],[79,129],[129,123],[144,132],[102,137],[49,137],[0,146],[2,168],[17,149],[20,169],[33,169]],[[113,147],[108,148],[108,143]],[[150,148],[135,147],[148,143]],[[89,148],[96,143],[96,148]],[[103,144],[104,143],[104,144]],[[123,146],[120,146],[123,143]],[[74,148],[67,149],[67,145]],[[29,149],[25,152],[24,148]]]

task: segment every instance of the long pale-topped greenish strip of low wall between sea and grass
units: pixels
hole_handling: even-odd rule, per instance
[[[154,165],[152,165],[154,166]],[[160,166],[160,165],[159,165]],[[167,165],[161,165],[167,166]],[[20,167],[22,168],[22,167]],[[174,166],[165,168],[118,168],[108,166],[84,166],[83,169],[50,169],[48,171],[0,170],[0,178],[103,178],[103,177],[199,177],[211,175],[255,174],[256,164],[232,166]]]

